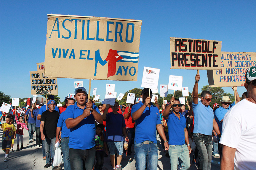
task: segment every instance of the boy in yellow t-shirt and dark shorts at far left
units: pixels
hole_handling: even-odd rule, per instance
[[[3,117],[0,118],[2,120]],[[11,149],[12,139],[15,137],[15,126],[11,124],[12,117],[6,116],[5,121],[6,123],[0,124],[1,128],[3,128],[3,137],[2,137],[2,149],[5,152],[4,162],[8,161],[9,152]]]

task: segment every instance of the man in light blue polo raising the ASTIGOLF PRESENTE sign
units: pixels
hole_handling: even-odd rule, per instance
[[[201,101],[198,101],[198,82],[200,75],[196,74],[193,88],[194,131],[193,139],[198,149],[198,170],[210,170],[212,164],[212,127],[220,137],[220,130],[214,119],[213,110],[209,106],[212,101],[210,91],[202,91]]]

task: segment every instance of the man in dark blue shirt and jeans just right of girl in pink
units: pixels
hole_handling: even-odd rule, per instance
[[[29,142],[32,142],[33,135],[36,131],[36,118],[31,117],[31,110],[33,109],[37,110],[37,107],[28,109],[27,112],[25,113],[25,118],[24,118],[26,125],[28,125]],[[27,121],[27,117],[28,117],[28,121]]]

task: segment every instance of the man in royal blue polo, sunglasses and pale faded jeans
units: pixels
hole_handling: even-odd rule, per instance
[[[191,147],[188,141],[186,118],[180,113],[182,104],[180,104],[179,99],[172,97],[170,103],[167,109],[164,110],[163,117],[168,126],[171,170],[177,170],[179,157],[182,161],[182,170],[187,170],[190,167],[189,154],[191,153]],[[171,108],[172,111],[170,111]]]

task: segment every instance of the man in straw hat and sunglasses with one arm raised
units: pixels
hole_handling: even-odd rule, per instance
[[[240,102],[240,97],[237,93],[237,87],[235,87],[235,89],[232,87],[232,89],[236,91],[236,102]],[[215,120],[219,125],[219,129],[221,133],[223,118],[225,114],[228,112],[228,110],[235,105],[235,102],[232,103],[232,101],[229,99],[228,96],[222,96],[222,99],[220,100],[220,102],[221,102],[221,106],[215,110]],[[217,136],[217,140],[218,142],[220,142],[220,138],[218,136]],[[219,149],[220,160],[221,160],[222,145],[220,143],[218,143],[218,149]]]

